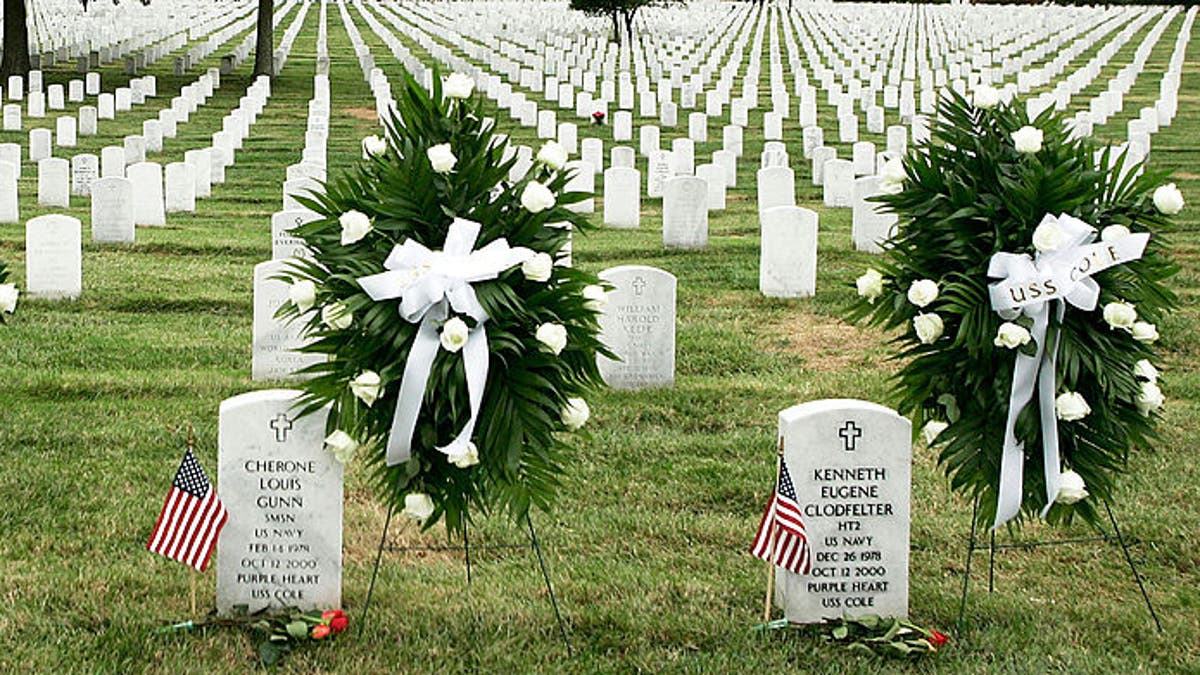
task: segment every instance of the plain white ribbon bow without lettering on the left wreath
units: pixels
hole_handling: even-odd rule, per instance
[[[440,345],[438,324],[450,316],[450,309],[476,322],[462,348],[470,419],[450,444],[438,449],[450,458],[462,455],[475,430],[479,407],[484,400],[484,386],[487,384],[488,351],[484,323],[488,317],[470,285],[496,279],[534,255],[522,246],[510,247],[503,238],[478,251],[473,250],[480,227],[478,222],[455,219],[440,251],[431,251],[407,239],[394,247],[384,261],[383,267],[388,271],[358,280],[372,300],[400,298],[400,316],[409,323],[420,322],[400,381],[400,396],[388,437],[388,466],[408,461],[413,455],[416,417],[421,411],[430,370]]]

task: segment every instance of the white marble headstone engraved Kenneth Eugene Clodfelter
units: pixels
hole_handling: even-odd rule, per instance
[[[780,412],[779,437],[778,490],[798,504],[810,566],[776,568],[784,616],[907,616],[912,423],[868,401],[821,400]]]

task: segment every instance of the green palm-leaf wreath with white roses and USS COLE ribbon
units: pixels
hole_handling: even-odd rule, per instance
[[[1180,191],[988,86],[949,92],[930,142],[883,173],[899,229],[848,315],[899,331],[900,411],[980,524],[1096,522],[1154,438]]]

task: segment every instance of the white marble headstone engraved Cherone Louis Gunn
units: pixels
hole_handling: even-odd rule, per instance
[[[328,410],[298,417],[301,392],[221,402],[217,485],[229,521],[217,540],[217,611],[342,604],[343,467],[324,449]]]

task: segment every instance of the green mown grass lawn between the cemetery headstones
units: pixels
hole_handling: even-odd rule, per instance
[[[329,11],[331,175],[356,161],[362,136],[378,131],[371,121],[373,100],[336,10]],[[293,16],[281,22],[277,36]],[[400,66],[356,11],[352,16],[398,88]],[[270,215],[281,208],[286,167],[300,160],[318,17],[318,7],[311,8],[269,104],[212,198],[198,201],[194,215],[172,215],[167,227],[139,228],[136,244],[118,246],[90,243],[88,204],[73,198],[65,213],[84,221],[83,295],[77,301],[23,297],[18,312],[0,327],[0,671],[238,673],[256,667],[253,645],[242,633],[155,633],[188,617],[188,572],[144,545],[186,425],[194,424],[200,461],[215,474],[218,404],[271,386],[250,381],[252,268],[270,257]],[[1126,112],[1097,136],[1123,135],[1126,120],[1157,96],[1181,23],[1182,16],[1159,41],[1126,98]],[[1114,64],[1133,58],[1148,28]],[[415,43],[409,47],[415,50]],[[160,97],[115,121],[102,120],[101,136],[80,137],[74,153],[98,155],[103,145],[140,133],[142,121],[216,65],[221,53],[186,77],[170,74],[170,59],[154,66]],[[250,67],[222,77],[208,107],[149,159],[181,161],[184,150],[206,144],[250,84]],[[763,70],[766,103],[769,67]],[[127,79],[115,64],[103,76],[106,90]],[[47,83],[74,77],[61,65],[47,71]],[[1180,114],[1154,136],[1152,153],[1154,166],[1176,172],[1190,202],[1171,233],[1183,268],[1175,281],[1182,306],[1160,325],[1169,401],[1162,444],[1134,448],[1116,504],[1136,542],[1133,554],[1163,632],[1154,632],[1120,550],[1099,544],[1006,550],[997,557],[992,593],[986,592],[986,556],[977,556],[967,622],[955,629],[971,504],[949,494],[932,452],[918,444],[911,616],[950,633],[952,641],[913,670],[1200,668],[1200,554],[1194,548],[1200,347],[1193,336],[1200,327],[1200,38],[1189,46],[1182,89]],[[511,127],[505,131],[517,142],[538,143],[533,130],[515,127],[490,103],[486,110]],[[886,335],[839,318],[853,298],[853,279],[872,258],[853,251],[848,210],[820,207],[798,149],[792,162],[799,203],[821,213],[817,295],[775,300],[758,294],[752,172],[762,148],[761,119],[751,117],[738,187],[728,195],[728,209],[710,215],[706,250],[662,249],[656,199],[643,199],[640,229],[604,229],[575,240],[576,264],[589,271],[642,263],[679,279],[676,387],[602,392],[589,401],[592,435],[569,465],[564,496],[553,513],[535,514],[575,657],[565,658],[530,554],[476,551],[468,586],[460,555],[409,551],[385,556],[364,633],[355,629],[336,645],[301,650],[284,670],[910,668],[828,646],[815,631],[751,632],[761,620],[764,577],[746,548],[772,489],[776,413],[821,398],[888,404],[887,377],[895,368]],[[827,138],[835,138],[828,107],[821,108],[821,120],[829,125]],[[0,132],[0,142],[25,144],[29,129],[53,124],[53,117],[26,119],[25,131]],[[794,118],[785,125],[790,147],[799,143],[794,125]],[[593,132],[581,126],[581,137]],[[697,144],[697,163],[719,149],[720,124],[709,127],[709,138],[715,141]],[[848,148],[839,154],[848,156]],[[55,155],[70,156],[58,148]],[[26,162],[23,169],[22,217],[52,213],[35,205],[36,167]],[[599,207],[598,201],[598,219]],[[24,286],[23,226],[0,226],[0,259]],[[347,472],[343,603],[354,622],[384,520],[367,478],[361,466]],[[503,521],[480,522],[474,533],[479,543],[523,538]],[[1033,525],[1018,537],[1084,533],[1082,527]],[[398,539],[445,543],[412,528]],[[211,572],[199,579],[202,611],[214,605],[214,584]]]

